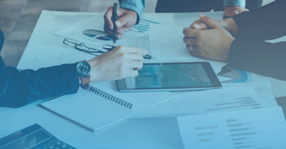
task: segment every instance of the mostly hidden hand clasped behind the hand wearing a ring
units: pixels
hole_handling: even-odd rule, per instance
[[[228,18],[225,20],[215,20],[215,21],[217,22],[217,24],[219,24],[225,30],[231,33],[233,37],[237,37],[238,35],[237,25],[232,18]],[[194,21],[194,23],[192,23],[189,28],[204,30],[204,29],[208,29],[209,27],[201,19],[198,19]]]

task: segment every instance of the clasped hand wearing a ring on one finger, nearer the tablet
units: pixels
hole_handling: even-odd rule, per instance
[[[188,50],[196,57],[227,61],[229,48],[235,38],[214,19],[200,15],[200,20],[210,29],[184,28],[183,40],[187,44]]]

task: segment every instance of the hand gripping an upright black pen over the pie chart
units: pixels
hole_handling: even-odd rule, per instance
[[[112,22],[113,7],[109,7],[104,14],[104,31],[109,35],[113,35],[113,22]],[[115,21],[117,26],[117,38],[122,38],[122,33],[131,30],[137,21],[137,13],[133,10],[118,9],[118,19]]]

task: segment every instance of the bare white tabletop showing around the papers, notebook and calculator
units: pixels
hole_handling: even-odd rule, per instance
[[[76,21],[91,17],[96,13],[74,13],[43,11],[29,40],[29,44],[62,46],[63,37],[53,32],[76,24]],[[188,27],[198,19],[199,13],[154,14],[168,16],[175,26]],[[205,13],[210,17],[222,18],[221,12]],[[185,22],[179,21],[185,20]],[[259,96],[267,99],[273,106],[277,105],[270,88],[255,89]],[[154,148],[183,148],[176,118],[128,119],[96,132],[90,132],[66,119],[63,119],[39,106],[47,101],[40,100],[21,108],[0,107],[0,138],[17,130],[38,123],[60,140],[77,146],[85,143],[146,143]]]

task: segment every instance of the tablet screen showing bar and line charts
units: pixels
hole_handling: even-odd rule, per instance
[[[212,86],[202,64],[143,65],[138,72],[125,78],[127,88]]]

